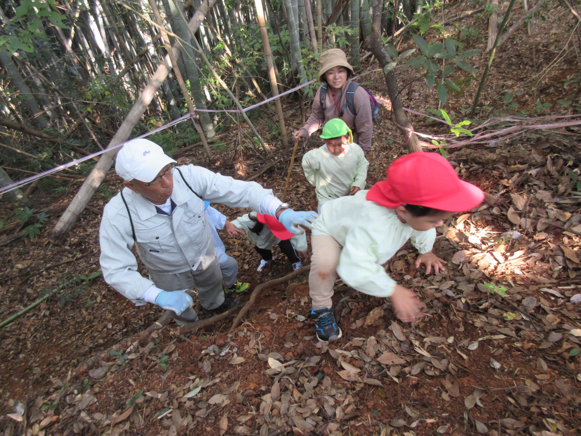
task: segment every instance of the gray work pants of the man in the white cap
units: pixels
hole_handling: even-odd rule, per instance
[[[195,270],[177,274],[157,274],[150,272],[149,277],[158,288],[164,291],[184,291],[195,288],[198,292],[200,304],[205,309],[216,309],[224,302],[222,272],[220,270],[220,263],[216,257],[214,244],[210,243],[206,254],[202,256],[202,260]],[[180,316],[176,315],[174,318],[182,322],[195,322],[198,321],[198,314],[193,308],[189,308],[185,312],[182,312]]]

